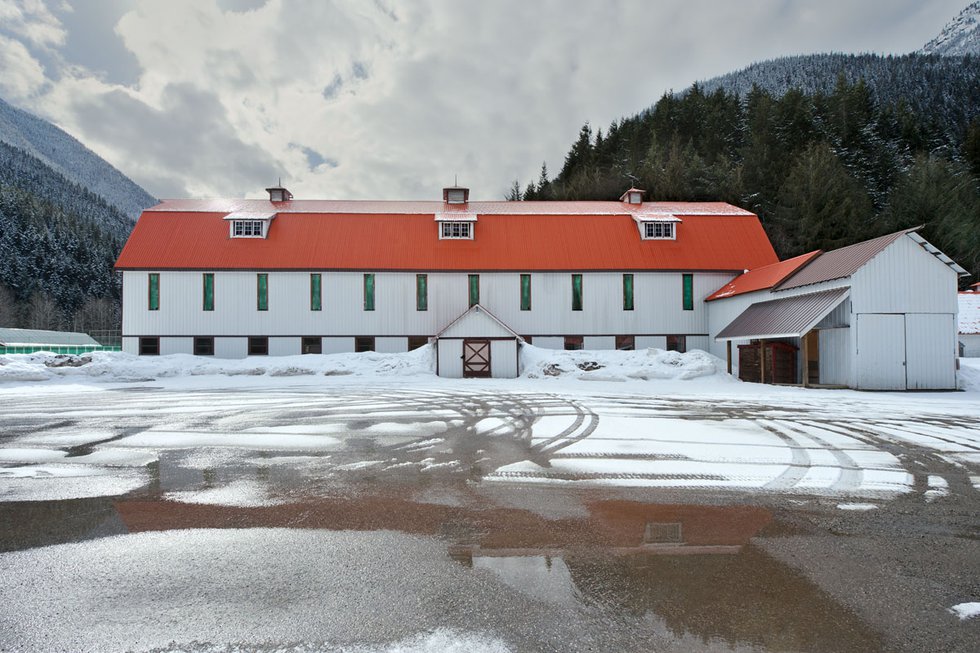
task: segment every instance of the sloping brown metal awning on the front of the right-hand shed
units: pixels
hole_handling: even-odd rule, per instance
[[[715,340],[798,338],[819,324],[847,299],[850,288],[757,302],[745,309]]]

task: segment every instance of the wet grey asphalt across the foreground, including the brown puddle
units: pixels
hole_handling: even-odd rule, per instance
[[[159,423],[141,394],[167,405],[166,392],[0,413],[0,446],[90,431],[66,445],[86,455]],[[402,398],[377,401],[420,405]],[[533,414],[504,403],[491,408],[508,423]],[[322,417],[316,402],[251,415],[209,405],[182,424]],[[463,416],[438,447],[413,446],[423,435],[355,438],[247,462],[164,450],[121,495],[0,503],[0,650],[980,650],[980,619],[948,612],[980,601],[980,493],[954,481],[923,500],[928,474],[971,472],[929,451],[896,450],[917,491],[868,512],[831,496],[501,483],[487,475],[555,452],[466,428],[489,414],[479,401],[432,408]],[[358,412],[358,426],[371,423]],[[429,415],[416,412],[411,423]],[[590,419],[572,417],[565,438]],[[321,474],[327,457],[389,464]],[[276,505],[173,500],[241,478],[274,488]],[[403,644],[426,633],[443,638]]]

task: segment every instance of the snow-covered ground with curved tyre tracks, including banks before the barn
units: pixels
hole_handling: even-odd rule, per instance
[[[966,392],[862,393],[741,383],[704,352],[523,356],[523,378],[479,381],[435,376],[430,347],[244,360],[101,353],[77,367],[0,356],[0,500],[122,494],[163,457],[236,470],[166,498],[240,506],[288,500],[258,473],[270,468],[290,470],[294,485],[479,469],[492,483],[870,499],[920,488],[930,501],[980,485],[975,359],[961,362]],[[494,453],[505,441],[520,446]]]

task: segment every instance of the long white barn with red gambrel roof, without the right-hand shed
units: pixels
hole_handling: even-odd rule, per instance
[[[516,353],[500,352],[518,334],[556,349],[708,349],[704,298],[777,260],[754,214],[646,202],[636,189],[619,202],[470,202],[457,187],[434,202],[269,192],[144,211],[116,265],[124,351],[399,352],[438,337],[441,374],[481,376],[482,349],[467,341],[489,340],[489,374],[516,376]]]

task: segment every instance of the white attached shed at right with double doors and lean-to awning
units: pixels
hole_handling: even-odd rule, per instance
[[[708,298],[716,342],[796,347],[803,385],[956,388],[956,286],[966,271],[914,229],[768,267]],[[769,381],[765,369],[758,380]]]

